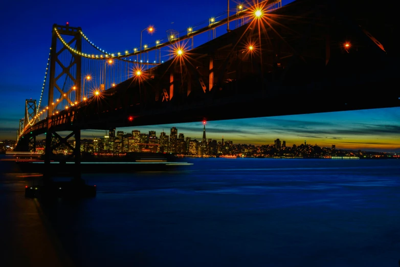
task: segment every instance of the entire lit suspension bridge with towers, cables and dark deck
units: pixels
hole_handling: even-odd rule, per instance
[[[112,52],[79,27],[53,25],[40,98],[26,100],[15,150],[35,151],[46,133],[45,162],[66,145],[79,163],[83,129],[400,106],[393,28],[372,13],[344,1],[267,0]],[[201,35],[209,41],[195,47]]]

